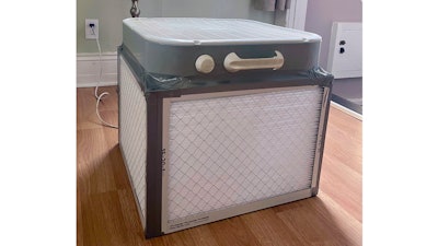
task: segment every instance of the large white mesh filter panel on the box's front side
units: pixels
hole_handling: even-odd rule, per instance
[[[174,102],[169,220],[310,188],[320,87]]]

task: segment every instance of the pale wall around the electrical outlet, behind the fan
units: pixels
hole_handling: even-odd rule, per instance
[[[85,39],[85,19],[99,19],[103,52],[122,44],[122,20],[130,17],[131,0],[77,0],[77,54],[97,52],[95,40]],[[239,17],[274,23],[274,13],[255,10],[252,0],[138,0],[140,17]]]

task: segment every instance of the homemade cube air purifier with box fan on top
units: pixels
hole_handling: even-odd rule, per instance
[[[185,21],[196,19],[127,20],[118,49],[119,145],[146,237],[318,194],[333,80],[318,36],[260,24],[278,44],[245,45],[251,30],[228,44],[206,37],[224,20],[203,19],[208,42],[161,42]],[[258,25],[227,21],[241,22]]]

